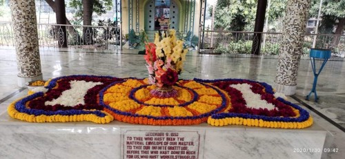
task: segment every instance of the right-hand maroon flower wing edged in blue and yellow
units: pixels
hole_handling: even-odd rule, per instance
[[[310,127],[313,124],[313,118],[306,110],[281,97],[276,98],[273,88],[264,82],[255,82],[248,79],[195,79],[195,81],[217,86],[226,91],[231,97],[231,109],[223,113],[213,114],[208,118],[208,124],[213,126],[240,124],[253,127],[301,129]],[[234,84],[250,85],[250,91],[260,95],[260,100],[266,100],[267,104],[273,104],[275,109],[255,109],[246,106],[246,100],[244,100],[242,92],[233,88]]]

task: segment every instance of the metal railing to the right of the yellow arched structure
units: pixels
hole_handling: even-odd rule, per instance
[[[250,54],[252,52],[253,39],[257,34],[262,34],[260,44],[260,55],[277,55],[279,53],[281,32],[236,32],[236,31],[215,31],[204,30],[204,40],[199,41],[200,53],[237,53]],[[313,40],[316,37],[315,48],[331,49],[334,56],[345,54],[345,35],[304,35],[303,53],[308,55],[313,47]],[[258,45],[258,44],[254,44]]]

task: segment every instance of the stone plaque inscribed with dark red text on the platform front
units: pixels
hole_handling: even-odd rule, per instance
[[[124,158],[199,158],[197,131],[136,131],[124,133]]]

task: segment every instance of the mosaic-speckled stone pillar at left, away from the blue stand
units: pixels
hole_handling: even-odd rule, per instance
[[[18,85],[42,79],[34,0],[12,0],[12,26],[17,53]]]

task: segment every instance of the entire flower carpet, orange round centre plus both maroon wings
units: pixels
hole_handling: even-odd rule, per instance
[[[158,97],[148,79],[71,75],[50,79],[44,88],[8,106],[10,117],[26,122],[112,120],[132,124],[244,125],[302,129],[313,124],[308,111],[278,97],[264,82],[248,79],[193,79],[172,85],[176,95]]]

